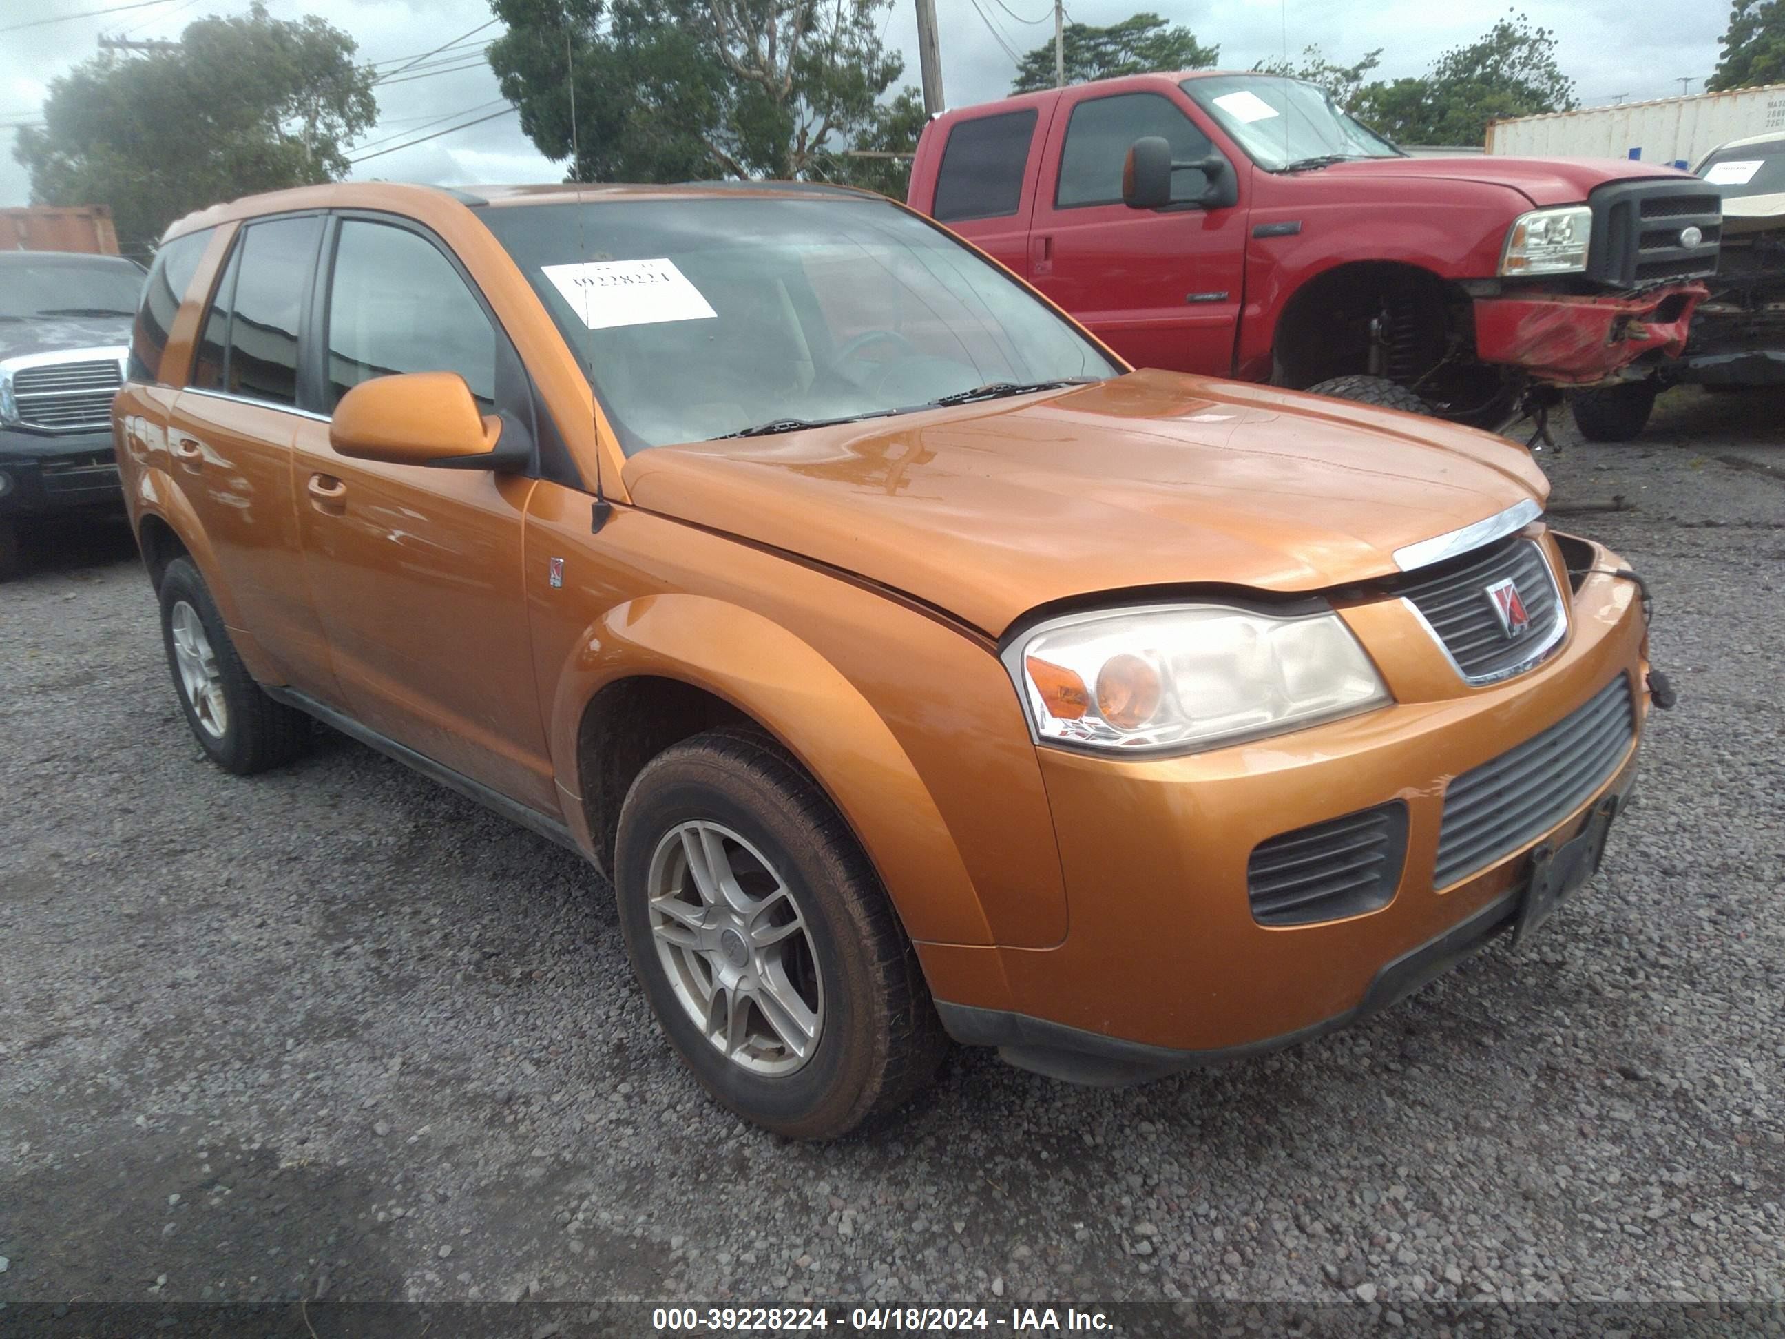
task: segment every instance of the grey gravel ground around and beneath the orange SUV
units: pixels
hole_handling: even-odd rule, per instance
[[[703,1098],[573,857],[336,736],[203,762],[127,537],[52,545],[0,587],[0,1300],[1785,1300],[1778,407],[1562,434],[1681,705],[1533,955],[1139,1089],[962,1052],[832,1146]]]

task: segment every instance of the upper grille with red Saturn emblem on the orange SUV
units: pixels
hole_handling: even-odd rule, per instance
[[[1530,620],[1517,636],[1507,636],[1489,595],[1489,587],[1503,580],[1517,587]],[[1473,684],[1530,670],[1555,648],[1567,627],[1567,611],[1544,550],[1537,541],[1517,536],[1401,586],[1399,595],[1419,611],[1432,636]]]

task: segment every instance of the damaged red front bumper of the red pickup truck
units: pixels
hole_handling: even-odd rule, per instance
[[[1676,357],[1692,309],[1706,296],[1703,284],[1669,284],[1637,296],[1514,289],[1474,300],[1474,348],[1483,362],[1590,386],[1644,353]]]

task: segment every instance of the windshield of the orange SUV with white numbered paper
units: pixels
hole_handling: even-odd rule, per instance
[[[500,205],[482,220],[585,361],[627,452],[885,414],[1110,361],[884,200]]]

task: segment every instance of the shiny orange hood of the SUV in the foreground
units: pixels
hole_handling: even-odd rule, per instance
[[[1548,480],[1503,437],[1267,386],[1098,386],[778,437],[653,446],[646,511],[800,553],[991,634],[1150,586],[1317,591]]]

